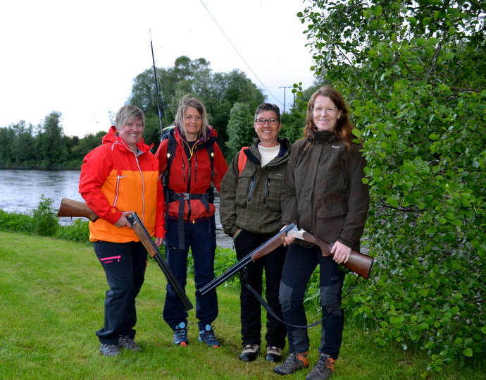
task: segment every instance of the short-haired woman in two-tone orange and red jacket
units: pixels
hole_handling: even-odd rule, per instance
[[[99,216],[89,222],[89,240],[106,273],[104,327],[96,331],[100,352],[119,355],[119,348],[139,351],[135,343],[137,297],[147,267],[147,250],[132,230],[127,214],[136,212],[160,246],[164,236],[163,192],[158,161],[142,140],[144,114],[123,106],[102,144],[81,166],[79,191]]]

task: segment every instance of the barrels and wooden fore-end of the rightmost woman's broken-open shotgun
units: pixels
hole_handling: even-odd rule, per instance
[[[213,281],[207,283],[205,286],[199,289],[199,293],[201,293],[201,295],[206,295],[211,290],[213,290],[217,286],[220,286],[223,282],[227,281],[232,276],[235,276],[235,274],[241,271],[249,263],[256,262],[256,260],[261,259],[261,257],[266,256],[270,252],[276,250],[278,247],[280,247],[280,245],[285,243],[285,236],[287,236],[287,232],[295,228],[297,228],[297,226],[295,226],[294,223],[290,223],[288,226],[280,230],[279,233],[277,233],[272,238],[268,239],[265,243],[260,245],[260,247],[256,248],[256,250],[251,251],[247,256],[239,260],[239,262],[237,262],[235,265],[226,269],[223,274],[214,278]]]

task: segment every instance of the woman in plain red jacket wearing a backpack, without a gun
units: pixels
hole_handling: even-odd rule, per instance
[[[208,125],[204,105],[198,99],[185,96],[177,109],[175,128],[156,152],[166,182],[166,258],[183,287],[187,282],[189,247],[196,289],[214,278],[216,221],[211,183],[219,191],[221,178],[228,170],[216,144],[217,136],[216,130]],[[204,297],[196,292],[199,341],[213,347],[220,345],[211,326],[217,316],[216,290]],[[173,341],[177,345],[189,343],[187,317],[182,302],[168,284],[163,319],[173,329]]]

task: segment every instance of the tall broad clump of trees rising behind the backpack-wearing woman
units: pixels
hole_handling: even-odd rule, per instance
[[[265,99],[263,92],[242,71],[212,73],[206,59],[192,61],[187,56],[180,56],[175,60],[173,67],[156,68],[156,71],[158,88],[163,99],[162,126],[166,127],[173,123],[180,98],[185,94],[192,94],[206,106],[209,123],[218,131],[218,144],[225,156],[228,156],[228,152],[225,151],[225,142],[228,140],[226,127],[232,106],[242,102],[249,104],[250,109],[256,109]],[[147,143],[154,143],[157,147],[160,140],[160,135],[156,133],[158,119],[151,116],[158,115],[153,68],[137,75],[129,102],[145,112],[147,123],[144,138]]]

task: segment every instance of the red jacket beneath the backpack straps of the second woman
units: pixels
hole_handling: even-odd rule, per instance
[[[177,194],[204,194],[212,182],[216,190],[219,191],[221,179],[228,170],[228,164],[226,164],[225,157],[223,157],[223,153],[216,143],[216,137],[218,137],[216,130],[208,127],[206,139],[198,140],[192,147],[189,147],[187,140],[182,137],[177,127],[175,128],[174,136],[177,147],[170,166],[168,178],[169,188]],[[214,151],[213,178],[211,178],[211,160],[206,149],[206,146],[209,144],[213,145]],[[166,170],[167,166],[167,148],[168,140],[163,140],[155,154],[158,161],[160,161],[161,173]],[[215,207],[212,203],[209,204],[210,211],[208,214],[201,200],[187,200],[183,202],[185,202],[183,215],[185,221],[197,221],[199,218],[214,215]],[[169,203],[169,216],[179,216],[179,203],[180,201]]]

